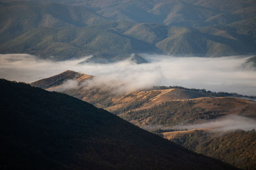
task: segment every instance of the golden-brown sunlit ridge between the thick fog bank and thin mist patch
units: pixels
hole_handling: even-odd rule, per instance
[[[68,72],[88,76],[87,74]],[[65,78],[61,82],[68,81],[69,78],[66,74],[67,72],[63,72],[58,75]],[[58,86],[55,85],[56,82]],[[61,89],[61,92],[111,111],[143,128],[157,127],[157,125],[173,127],[180,124],[197,124],[227,115],[240,115],[256,119],[256,103],[236,94],[216,94],[205,90],[175,87],[141,89],[124,94],[114,93],[113,91],[118,88],[115,86],[90,84],[87,87],[90,80],[88,83],[86,82],[87,80],[84,80],[81,86],[65,89],[61,88],[59,81],[45,78],[31,83],[31,85],[50,91]],[[113,83],[115,84],[115,82]],[[44,88],[45,84],[51,84],[51,86]],[[154,130],[157,129],[151,129],[151,131]]]

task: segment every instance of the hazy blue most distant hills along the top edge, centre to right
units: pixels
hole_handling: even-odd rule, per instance
[[[111,20],[132,21],[138,23],[156,22],[165,25],[176,26],[205,26],[219,24],[220,20],[211,21],[212,17],[222,15],[225,21],[221,24],[232,22],[230,16],[235,20],[242,20],[244,17],[255,17],[255,15],[244,15],[249,13],[248,8],[255,8],[255,1],[232,0],[215,1],[211,0],[175,0],[175,1],[134,1],[134,0],[83,0],[83,1],[54,1],[44,0],[73,5],[84,5],[100,15]],[[251,10],[250,13],[252,13]],[[193,15],[192,15],[193,14]]]

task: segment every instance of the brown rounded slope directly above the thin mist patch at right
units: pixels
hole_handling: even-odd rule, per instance
[[[234,97],[202,97],[185,101],[170,101],[145,110],[130,110],[120,117],[140,127],[207,122],[225,115],[256,118],[256,103]],[[127,109],[129,110],[129,109]]]

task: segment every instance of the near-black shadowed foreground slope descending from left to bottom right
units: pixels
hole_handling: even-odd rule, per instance
[[[3,169],[234,169],[74,97],[0,87]]]

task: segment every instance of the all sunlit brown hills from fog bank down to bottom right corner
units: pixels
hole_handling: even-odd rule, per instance
[[[73,76],[68,76],[71,74]],[[218,140],[219,137],[213,140],[216,138],[216,134],[220,133],[209,131],[212,127],[211,129],[194,127],[193,131],[188,131],[188,129],[179,130],[179,127],[182,126],[185,128],[189,125],[214,122],[226,117],[238,116],[256,120],[255,98],[225,92],[210,92],[204,89],[186,89],[184,87],[153,87],[127,93],[116,93],[115,90],[118,87],[115,84],[122,86],[122,83],[112,82],[113,86],[101,85],[95,83],[94,78],[94,76],[88,74],[65,71],[56,76],[35,81],[31,85],[49,91],[64,92],[92,103],[98,108],[104,108],[115,113],[115,115],[132,124],[159,134],[166,139],[171,139],[194,152],[203,153],[243,169],[255,167],[253,158],[255,133],[253,132],[244,132],[250,136],[252,141],[248,141],[246,144],[237,142],[236,146],[235,143],[234,145],[230,144],[228,147],[230,151],[221,148],[215,155],[212,155],[213,153],[209,149],[216,145],[222,145],[220,144],[222,139],[224,141],[229,136],[228,141],[241,141],[242,137],[236,133],[230,136],[230,132],[227,132],[224,136],[220,136],[220,140]],[[77,85],[68,87],[68,81],[76,81]],[[239,122],[233,124],[239,124]],[[196,129],[202,131],[204,135],[200,138],[191,138],[191,136],[195,136],[195,132],[198,132]],[[173,133],[179,133],[179,135],[173,136]],[[247,135],[244,135],[243,139],[247,140]],[[211,145],[208,146],[209,143]],[[251,148],[248,153],[242,149],[247,146]],[[240,154],[240,152],[243,153]]]

